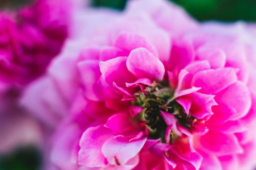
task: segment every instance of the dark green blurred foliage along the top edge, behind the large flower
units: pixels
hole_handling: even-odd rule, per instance
[[[128,0],[93,0],[94,6],[122,10]],[[198,20],[256,21],[256,0],[171,0]]]

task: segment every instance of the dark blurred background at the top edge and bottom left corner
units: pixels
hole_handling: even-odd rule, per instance
[[[16,9],[30,0],[0,0],[0,9]],[[128,0],[92,0],[94,7],[123,10]],[[171,0],[182,6],[199,21],[256,21],[256,0]],[[1,136],[0,136],[1,137]],[[23,146],[12,153],[0,154],[0,170],[39,170],[40,151],[35,146]]]

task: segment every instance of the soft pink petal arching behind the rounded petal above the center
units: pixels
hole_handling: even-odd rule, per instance
[[[128,55],[130,51],[143,47],[158,57],[156,48],[150,44],[143,36],[132,33],[119,34],[115,47],[122,49]]]

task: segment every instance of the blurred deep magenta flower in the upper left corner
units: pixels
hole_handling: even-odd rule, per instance
[[[20,12],[1,12],[1,82],[24,85],[45,72],[68,36],[72,8],[69,0],[38,0]]]

